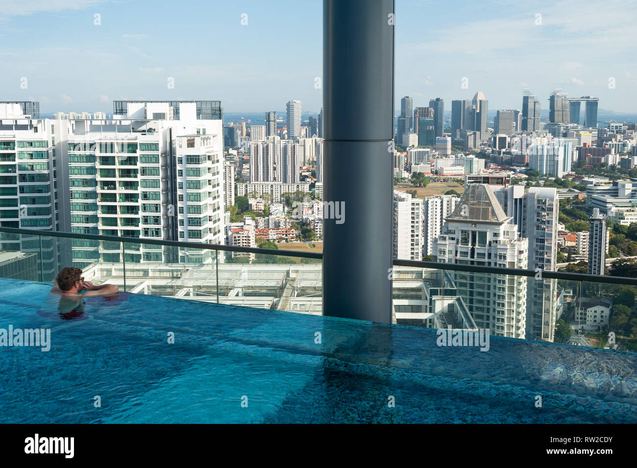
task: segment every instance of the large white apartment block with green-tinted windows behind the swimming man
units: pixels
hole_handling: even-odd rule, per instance
[[[115,101],[110,120],[56,120],[55,150],[78,234],[73,264],[210,262],[211,251],[176,252],[143,239],[224,243],[223,132],[218,101]],[[58,187],[60,189],[60,187]]]

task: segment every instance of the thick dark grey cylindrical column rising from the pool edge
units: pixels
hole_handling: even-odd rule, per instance
[[[323,87],[323,315],[390,323],[394,0],[324,0]]]

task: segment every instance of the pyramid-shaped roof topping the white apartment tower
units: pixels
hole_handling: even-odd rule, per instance
[[[454,212],[446,219],[506,223],[511,217],[506,216],[489,185],[470,183],[460,201],[455,204]]]

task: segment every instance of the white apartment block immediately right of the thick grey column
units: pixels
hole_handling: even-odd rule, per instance
[[[422,200],[394,190],[394,259],[422,260]]]

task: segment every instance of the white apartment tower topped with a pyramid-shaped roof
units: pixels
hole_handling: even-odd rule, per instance
[[[469,184],[436,240],[438,262],[526,269],[528,239],[510,221],[488,185]],[[450,273],[478,328],[524,338],[526,276]]]

